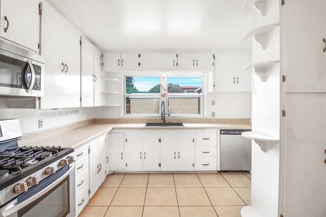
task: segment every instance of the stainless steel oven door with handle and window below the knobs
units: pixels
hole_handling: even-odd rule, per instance
[[[2,207],[0,216],[74,217],[75,164],[62,169]]]

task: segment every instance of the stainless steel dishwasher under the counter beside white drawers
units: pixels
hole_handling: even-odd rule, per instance
[[[221,130],[221,171],[251,170],[251,139],[241,136],[251,130]]]

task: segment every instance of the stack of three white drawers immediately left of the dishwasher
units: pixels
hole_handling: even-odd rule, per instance
[[[217,170],[217,131],[195,132],[195,170],[216,171]]]

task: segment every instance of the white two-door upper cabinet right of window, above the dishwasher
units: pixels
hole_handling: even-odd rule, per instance
[[[251,53],[215,53],[215,91],[251,91]]]

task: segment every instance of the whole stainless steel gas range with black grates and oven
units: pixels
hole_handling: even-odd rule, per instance
[[[0,216],[75,216],[72,148],[18,147],[18,119],[0,120]]]

